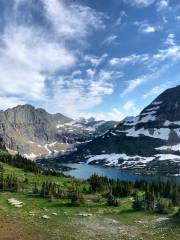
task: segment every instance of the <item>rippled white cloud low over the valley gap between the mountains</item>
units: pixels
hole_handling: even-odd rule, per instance
[[[102,69],[96,70],[96,74],[92,72],[87,69],[86,75],[83,73],[77,78],[67,75],[54,79],[51,110],[60,109],[66,115],[78,118],[80,113],[90,111],[100,105],[105,96],[111,95],[115,88],[113,80],[121,73]]]

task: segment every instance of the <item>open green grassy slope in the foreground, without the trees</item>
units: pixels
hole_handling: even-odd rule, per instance
[[[27,177],[28,184],[23,183],[27,189],[31,189],[37,179],[40,183],[47,178],[3,165],[5,173],[13,173],[21,180]],[[63,177],[48,178],[64,188],[72,181]],[[82,186],[84,184],[87,183],[82,183]],[[11,197],[22,201],[24,206],[10,206],[7,199]],[[121,199],[120,207],[108,207],[103,201],[93,202],[91,195],[87,195],[86,199],[84,205],[76,208],[71,207],[68,200],[50,201],[23,193],[0,193],[0,240],[180,239],[178,219],[170,216],[169,220],[160,221],[166,216],[135,212],[131,208],[130,198]],[[57,213],[57,216],[53,213]],[[78,216],[79,213],[92,213],[92,216],[82,217]],[[42,219],[43,215],[48,215],[50,219]]]

